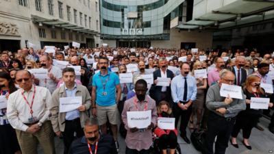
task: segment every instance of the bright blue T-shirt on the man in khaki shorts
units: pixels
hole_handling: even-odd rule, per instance
[[[103,88],[105,84],[105,89]],[[116,86],[120,79],[116,73],[108,71],[107,75],[97,73],[92,77],[92,86],[96,87],[96,103],[100,106],[111,106],[116,104]],[[105,95],[104,95],[105,94]]]

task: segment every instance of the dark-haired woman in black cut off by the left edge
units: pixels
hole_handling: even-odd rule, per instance
[[[15,92],[17,88],[14,81],[6,72],[0,72],[0,94],[2,99],[7,99]],[[15,130],[10,125],[7,118],[7,108],[0,109],[0,153],[1,154],[18,154],[21,153]]]

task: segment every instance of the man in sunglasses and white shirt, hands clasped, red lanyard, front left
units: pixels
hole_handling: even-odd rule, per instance
[[[49,119],[51,93],[47,88],[34,86],[27,70],[18,70],[16,82],[21,87],[10,94],[7,116],[16,129],[23,154],[37,154],[38,142],[45,154],[55,154],[54,133]]]

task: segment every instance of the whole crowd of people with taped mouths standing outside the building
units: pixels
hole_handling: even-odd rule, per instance
[[[187,129],[207,131],[208,154],[225,153],[229,140],[238,148],[240,129],[251,150],[251,130],[263,131],[262,114],[271,118],[274,133],[271,53],[152,47],[52,52],[46,47],[2,51],[0,58],[0,154],[36,154],[38,144],[45,154],[55,154],[55,136],[62,138],[64,154],[114,154],[119,132],[127,154],[150,153],[153,135],[161,153],[174,154],[178,135],[190,144]],[[206,70],[206,77],[196,70]],[[125,73],[132,74],[131,81],[121,83]],[[144,75],[152,75],[153,82]],[[240,86],[242,99],[222,97],[222,84]],[[269,109],[251,107],[253,97],[269,98]],[[64,100],[80,105],[64,111]],[[129,125],[128,112],[149,110],[150,125]],[[158,127],[158,117],[175,118],[175,129]]]

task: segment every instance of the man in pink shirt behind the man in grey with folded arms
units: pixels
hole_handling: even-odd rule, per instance
[[[215,68],[208,73],[208,86],[211,86],[220,79],[219,73],[225,68],[225,62],[222,57],[215,57],[214,64]]]

